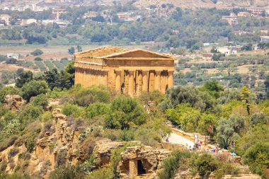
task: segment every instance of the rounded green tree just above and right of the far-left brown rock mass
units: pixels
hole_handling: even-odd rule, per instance
[[[49,91],[47,83],[45,81],[30,81],[25,83],[22,88],[23,98],[30,101],[33,96],[38,96],[40,94],[45,94]]]

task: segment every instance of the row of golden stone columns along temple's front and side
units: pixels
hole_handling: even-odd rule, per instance
[[[139,96],[143,91],[165,93],[173,87],[173,70],[162,69],[76,69],[76,83],[89,87],[103,84],[117,93]]]

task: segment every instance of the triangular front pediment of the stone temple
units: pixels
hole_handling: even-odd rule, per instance
[[[155,52],[150,52],[147,50],[129,50],[127,52],[120,52],[115,54],[110,54],[108,56],[104,56],[106,58],[167,58],[170,59],[171,57],[165,54],[159,54]]]

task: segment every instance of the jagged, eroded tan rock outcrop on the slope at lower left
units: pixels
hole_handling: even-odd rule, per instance
[[[66,116],[62,115],[61,109],[55,109],[52,117],[55,118],[55,133],[45,132],[45,136],[38,140],[35,147],[35,155],[40,161],[49,159],[54,167],[57,164],[57,156],[66,154],[67,162],[76,165],[81,153],[79,134],[84,127],[79,127],[74,131],[68,126]]]

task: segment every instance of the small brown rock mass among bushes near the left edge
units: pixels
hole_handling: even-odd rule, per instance
[[[18,110],[25,104],[25,100],[18,95],[7,95],[4,100],[4,105],[10,110]]]

